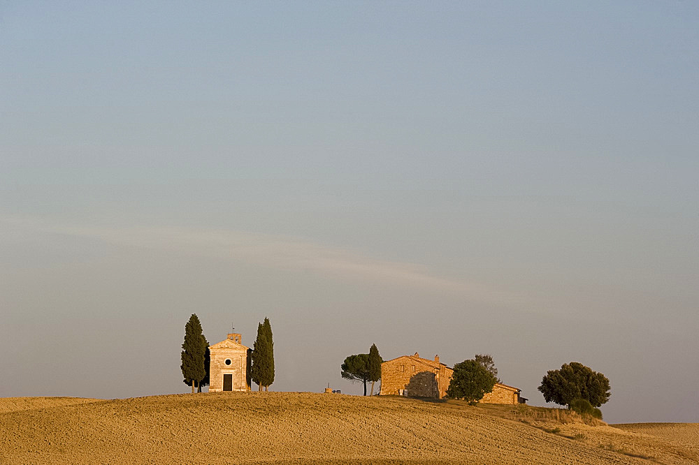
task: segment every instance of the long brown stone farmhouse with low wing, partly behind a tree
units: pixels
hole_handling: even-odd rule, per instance
[[[430,397],[442,399],[447,395],[454,370],[434,360],[415,355],[401,355],[381,364],[381,395]],[[483,396],[483,404],[524,404],[519,388],[496,383],[493,392]]]

